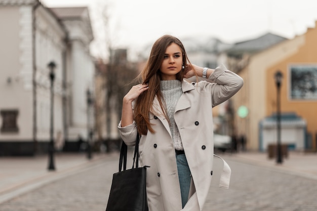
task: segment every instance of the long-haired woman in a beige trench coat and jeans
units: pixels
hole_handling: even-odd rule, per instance
[[[209,81],[184,79],[192,76]],[[214,70],[190,64],[171,35],[155,41],[140,77],[123,99],[118,129],[128,146],[141,135],[140,163],[150,166],[149,210],[202,210],[212,177],[212,107],[239,91],[243,79],[223,65]]]

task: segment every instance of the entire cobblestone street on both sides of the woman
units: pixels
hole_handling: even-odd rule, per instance
[[[204,211],[315,211],[317,180],[235,161],[229,189],[218,188],[221,161],[215,159],[214,177]],[[60,179],[0,204],[1,211],[104,211],[117,160]],[[128,164],[128,166],[130,166]]]

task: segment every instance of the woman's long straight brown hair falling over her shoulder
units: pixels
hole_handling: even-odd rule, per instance
[[[149,112],[153,111],[153,100],[155,96],[159,100],[161,109],[163,111],[163,115],[168,119],[167,111],[164,106],[164,99],[160,90],[160,82],[161,82],[161,65],[164,59],[164,55],[166,49],[175,43],[179,46],[182,51],[182,60],[183,66],[186,67],[187,61],[189,62],[185,48],[181,41],[171,35],[164,35],[157,39],[152,46],[150,56],[147,60],[145,67],[142,72],[138,76],[141,79],[143,84],[148,83],[148,90],[143,92],[136,100],[135,108],[134,108],[134,120],[137,124],[138,132],[141,135],[146,135],[147,130],[151,133],[155,133],[152,128],[149,119]],[[184,75],[184,69],[182,69],[179,73],[176,74],[176,79],[182,81]]]

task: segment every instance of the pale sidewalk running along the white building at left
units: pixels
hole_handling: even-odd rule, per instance
[[[55,171],[48,171],[48,155],[0,157],[0,204],[20,194],[86,171],[88,168],[107,161],[117,161],[118,157],[118,152],[93,153],[90,160],[86,153],[56,153],[54,156]]]

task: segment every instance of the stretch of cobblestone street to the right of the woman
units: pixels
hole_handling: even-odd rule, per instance
[[[231,167],[230,188],[217,188],[213,178],[205,211],[317,210],[317,180],[223,158]]]

